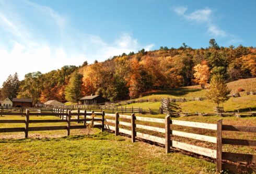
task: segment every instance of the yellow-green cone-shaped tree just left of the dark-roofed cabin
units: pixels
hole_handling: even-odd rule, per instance
[[[65,88],[65,98],[69,102],[77,102],[82,97],[83,75],[75,71]]]

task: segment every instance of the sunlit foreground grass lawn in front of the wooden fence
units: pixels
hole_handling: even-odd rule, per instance
[[[92,135],[1,140],[0,173],[215,173],[215,164],[99,130]]]

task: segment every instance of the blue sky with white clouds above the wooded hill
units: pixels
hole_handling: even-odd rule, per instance
[[[256,1],[0,0],[0,85],[160,46],[256,46]]]

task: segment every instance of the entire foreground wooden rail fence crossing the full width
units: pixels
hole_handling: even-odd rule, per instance
[[[22,116],[23,113],[3,113],[3,115],[16,115]],[[30,119],[30,116],[57,116],[61,119],[54,120],[42,120],[42,119]],[[73,118],[72,118],[73,116]],[[82,117],[82,118],[80,118]],[[218,120],[216,124],[213,123],[202,123],[202,122],[191,122],[182,120],[173,120],[169,115],[165,119],[160,118],[148,118],[148,117],[138,117],[135,114],[122,115],[119,113],[108,114],[96,111],[73,110],[69,109],[53,109],[53,112],[48,113],[32,113],[29,109],[26,110],[25,120],[0,120],[0,123],[24,123],[25,127],[19,128],[0,128],[0,132],[25,132],[25,138],[28,138],[28,133],[30,131],[46,131],[46,130],[66,130],[67,135],[70,134],[71,129],[85,129],[86,122],[94,122],[95,128],[100,128],[102,131],[104,129],[111,130],[115,135],[120,135],[120,133],[131,136],[131,141],[135,140],[146,140],[150,142],[155,142],[158,144],[165,145],[165,152],[170,153],[171,148],[179,149],[205,157],[210,157],[216,159],[217,171],[221,172],[223,169],[229,169],[229,171],[234,171],[237,164],[233,163],[246,163],[247,166],[241,165],[243,169],[250,169],[255,171],[256,155],[252,154],[239,154],[239,153],[229,153],[223,152],[223,144],[229,145],[242,145],[242,146],[256,146],[255,140],[238,140],[223,138],[223,131],[238,131],[238,132],[252,132],[256,133],[256,127],[253,126],[232,126],[223,125],[222,120]],[[66,122],[66,126],[44,126],[44,127],[30,127],[30,123],[49,123],[49,122]],[[82,123],[82,125],[71,126],[71,122]],[[162,125],[160,127],[148,126],[147,122],[159,123]],[[208,136],[196,133],[188,133],[183,131],[173,130],[172,125],[181,127],[191,127],[199,128],[204,130],[214,130],[217,136]],[[172,128],[172,129],[171,129]],[[142,133],[142,130],[149,130],[164,134],[165,138],[160,136],[150,135],[147,133]],[[208,143],[216,144],[216,149],[205,148],[197,145],[192,145],[180,141],[174,141],[171,139],[172,136],[180,136],[183,138],[200,140]],[[226,163],[226,160],[231,163]],[[248,165],[250,164],[250,165]],[[253,165],[254,164],[254,165]],[[248,167],[249,166],[249,167]]]

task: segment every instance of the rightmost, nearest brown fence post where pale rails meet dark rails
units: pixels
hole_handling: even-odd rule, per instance
[[[222,119],[217,121],[217,172],[222,172]]]

